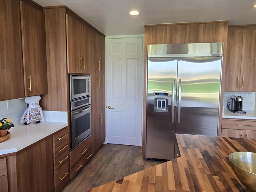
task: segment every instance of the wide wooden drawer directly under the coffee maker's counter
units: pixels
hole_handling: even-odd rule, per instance
[[[222,120],[222,129],[256,130],[256,121]]]

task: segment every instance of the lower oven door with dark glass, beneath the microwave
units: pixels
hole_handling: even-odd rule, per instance
[[[91,105],[71,112],[71,136],[72,149],[82,140],[92,134],[92,109]]]

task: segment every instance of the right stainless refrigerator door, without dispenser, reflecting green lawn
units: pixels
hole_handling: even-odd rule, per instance
[[[217,136],[221,57],[178,59],[180,123],[176,133]]]

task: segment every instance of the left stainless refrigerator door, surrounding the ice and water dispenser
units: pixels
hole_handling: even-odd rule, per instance
[[[172,123],[172,94],[176,95],[177,59],[149,58],[147,84],[146,157],[174,158],[175,123]],[[174,80],[174,93],[173,83]],[[155,96],[168,93],[168,96]],[[168,99],[168,112],[154,111],[155,99]],[[174,106],[176,100],[174,100]],[[174,110],[175,112],[175,110]]]

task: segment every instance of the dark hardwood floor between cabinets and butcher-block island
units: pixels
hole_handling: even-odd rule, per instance
[[[143,158],[141,147],[103,144],[62,192],[84,192],[160,163]]]

